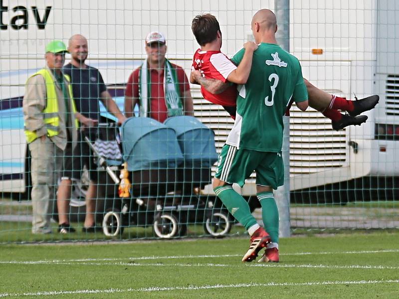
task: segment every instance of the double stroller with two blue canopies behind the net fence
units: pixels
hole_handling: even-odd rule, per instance
[[[227,209],[216,196],[201,194],[217,159],[212,130],[194,117],[177,116],[164,124],[130,118],[119,131],[120,171],[129,171],[130,185],[123,197],[105,200],[105,235],[152,226],[157,237],[168,239],[184,236],[188,225],[199,223],[207,235],[229,233],[233,218]]]

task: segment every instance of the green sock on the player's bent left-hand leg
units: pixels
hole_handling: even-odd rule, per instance
[[[233,190],[231,185],[224,185],[213,189],[217,197],[223,202],[231,215],[239,223],[241,223],[246,230],[252,225],[257,224],[255,217],[252,216],[248,203],[245,199]]]

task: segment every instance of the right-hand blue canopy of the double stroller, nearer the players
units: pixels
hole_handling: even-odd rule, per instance
[[[214,133],[198,119],[175,116],[164,124],[176,131],[186,166],[210,167],[217,160]]]

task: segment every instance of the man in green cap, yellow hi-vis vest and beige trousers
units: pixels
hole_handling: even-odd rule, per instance
[[[62,73],[66,46],[54,40],[45,48],[46,66],[26,81],[23,116],[31,155],[32,233],[51,233],[50,211],[67,144],[76,145],[78,120],[68,76]]]

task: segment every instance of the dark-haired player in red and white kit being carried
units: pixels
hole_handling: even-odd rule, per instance
[[[204,99],[223,106],[234,119],[236,86],[225,83],[228,81],[244,84],[246,80],[240,81],[241,83],[236,82],[234,76],[230,77],[230,74],[237,70],[240,73],[249,73],[251,62],[245,61],[245,65],[241,66],[243,61],[237,67],[220,52],[222,36],[215,16],[209,13],[197,15],[193,19],[192,30],[201,48],[194,54],[190,82],[200,84]],[[252,53],[248,54],[252,56]],[[316,88],[306,79],[304,81],[309,95],[309,106],[331,119],[332,127],[337,131],[350,125],[361,125],[366,122],[367,116],[359,114],[373,109],[379,101],[378,95],[358,101],[346,100]],[[338,110],[344,110],[348,114],[342,114]]]

